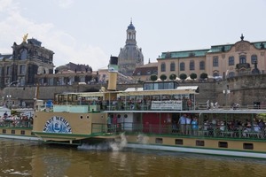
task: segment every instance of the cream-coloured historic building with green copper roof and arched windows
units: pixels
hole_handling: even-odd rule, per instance
[[[162,52],[158,60],[158,77],[175,73],[177,77],[185,73],[207,73],[208,77],[223,79],[263,73],[266,71],[266,42],[248,42],[241,35],[234,44],[215,45],[206,50],[185,50]]]

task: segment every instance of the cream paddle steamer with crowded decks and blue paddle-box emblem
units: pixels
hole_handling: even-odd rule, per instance
[[[107,89],[57,94],[53,106],[35,109],[31,133],[44,142],[67,144],[113,141],[123,133],[128,148],[266,158],[262,105],[200,104],[197,86],[176,81],[116,90],[115,59]]]

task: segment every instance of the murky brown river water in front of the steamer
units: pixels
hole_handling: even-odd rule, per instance
[[[266,160],[0,139],[0,176],[265,177]]]

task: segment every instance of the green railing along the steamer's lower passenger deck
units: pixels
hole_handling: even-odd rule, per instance
[[[169,135],[175,137],[199,137],[199,138],[230,138],[230,139],[253,139],[266,141],[266,129],[255,131],[253,128],[237,127],[227,129],[218,126],[206,127],[199,125],[197,128],[192,125],[172,124],[135,124],[132,122],[121,122],[118,124],[93,124],[93,134],[104,135],[127,133],[129,135]]]

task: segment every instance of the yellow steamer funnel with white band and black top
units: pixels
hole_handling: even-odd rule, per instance
[[[116,81],[117,81],[117,72],[118,72],[118,58],[117,57],[110,57],[109,65],[108,65],[108,73],[109,73],[109,80],[108,80],[108,88],[109,91],[116,90]]]

